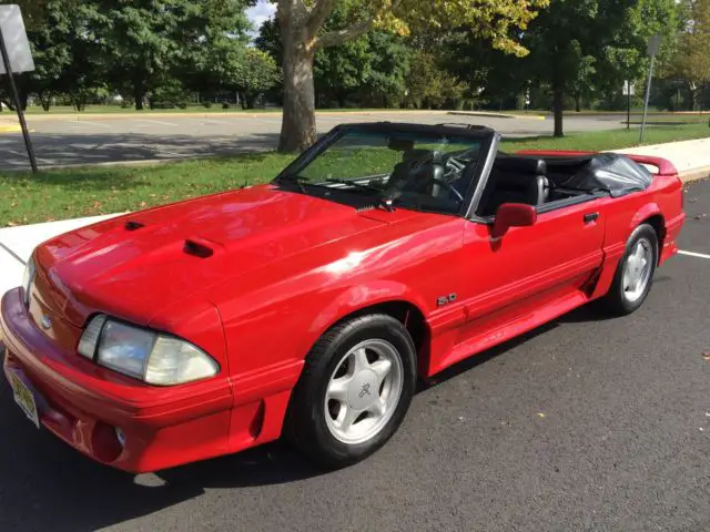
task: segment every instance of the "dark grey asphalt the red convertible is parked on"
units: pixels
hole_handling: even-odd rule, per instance
[[[710,256],[710,181],[682,250]],[[636,314],[586,307],[423,387],[336,472],[285,444],[132,477],[37,431],[0,383],[0,530],[710,530],[710,259],[679,255]]]

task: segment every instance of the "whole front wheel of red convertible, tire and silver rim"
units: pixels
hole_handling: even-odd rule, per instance
[[[287,433],[323,466],[357,462],[397,430],[415,385],[415,347],[397,319],[376,314],[345,321],[323,335],[306,357]]]

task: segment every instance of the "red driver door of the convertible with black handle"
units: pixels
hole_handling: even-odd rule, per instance
[[[605,219],[594,198],[538,214],[534,225],[510,227],[468,222],[460,296],[466,321],[460,342],[470,355],[554,319],[586,300],[584,289],[602,263]],[[549,208],[549,207],[548,207]]]

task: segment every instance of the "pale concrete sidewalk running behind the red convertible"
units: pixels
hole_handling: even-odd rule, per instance
[[[678,168],[684,182],[710,176],[710,137],[617,151],[667,158]],[[118,214],[0,228],[0,295],[22,283],[24,264],[39,244],[68,231],[113,216]]]

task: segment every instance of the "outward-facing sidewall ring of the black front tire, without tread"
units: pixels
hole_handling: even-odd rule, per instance
[[[412,402],[416,386],[416,354],[414,342],[399,321],[387,316],[373,316],[373,319],[347,328],[332,341],[324,356],[314,368],[315,382],[310,387],[307,398],[308,420],[318,447],[326,452],[326,461],[337,466],[356,462],[379,449],[397,430]],[[359,325],[359,326],[358,326]],[[325,396],[331,377],[343,357],[357,344],[368,339],[383,339],[392,344],[402,360],[403,386],[395,412],[385,427],[368,441],[348,444],[336,439],[325,420]]]

